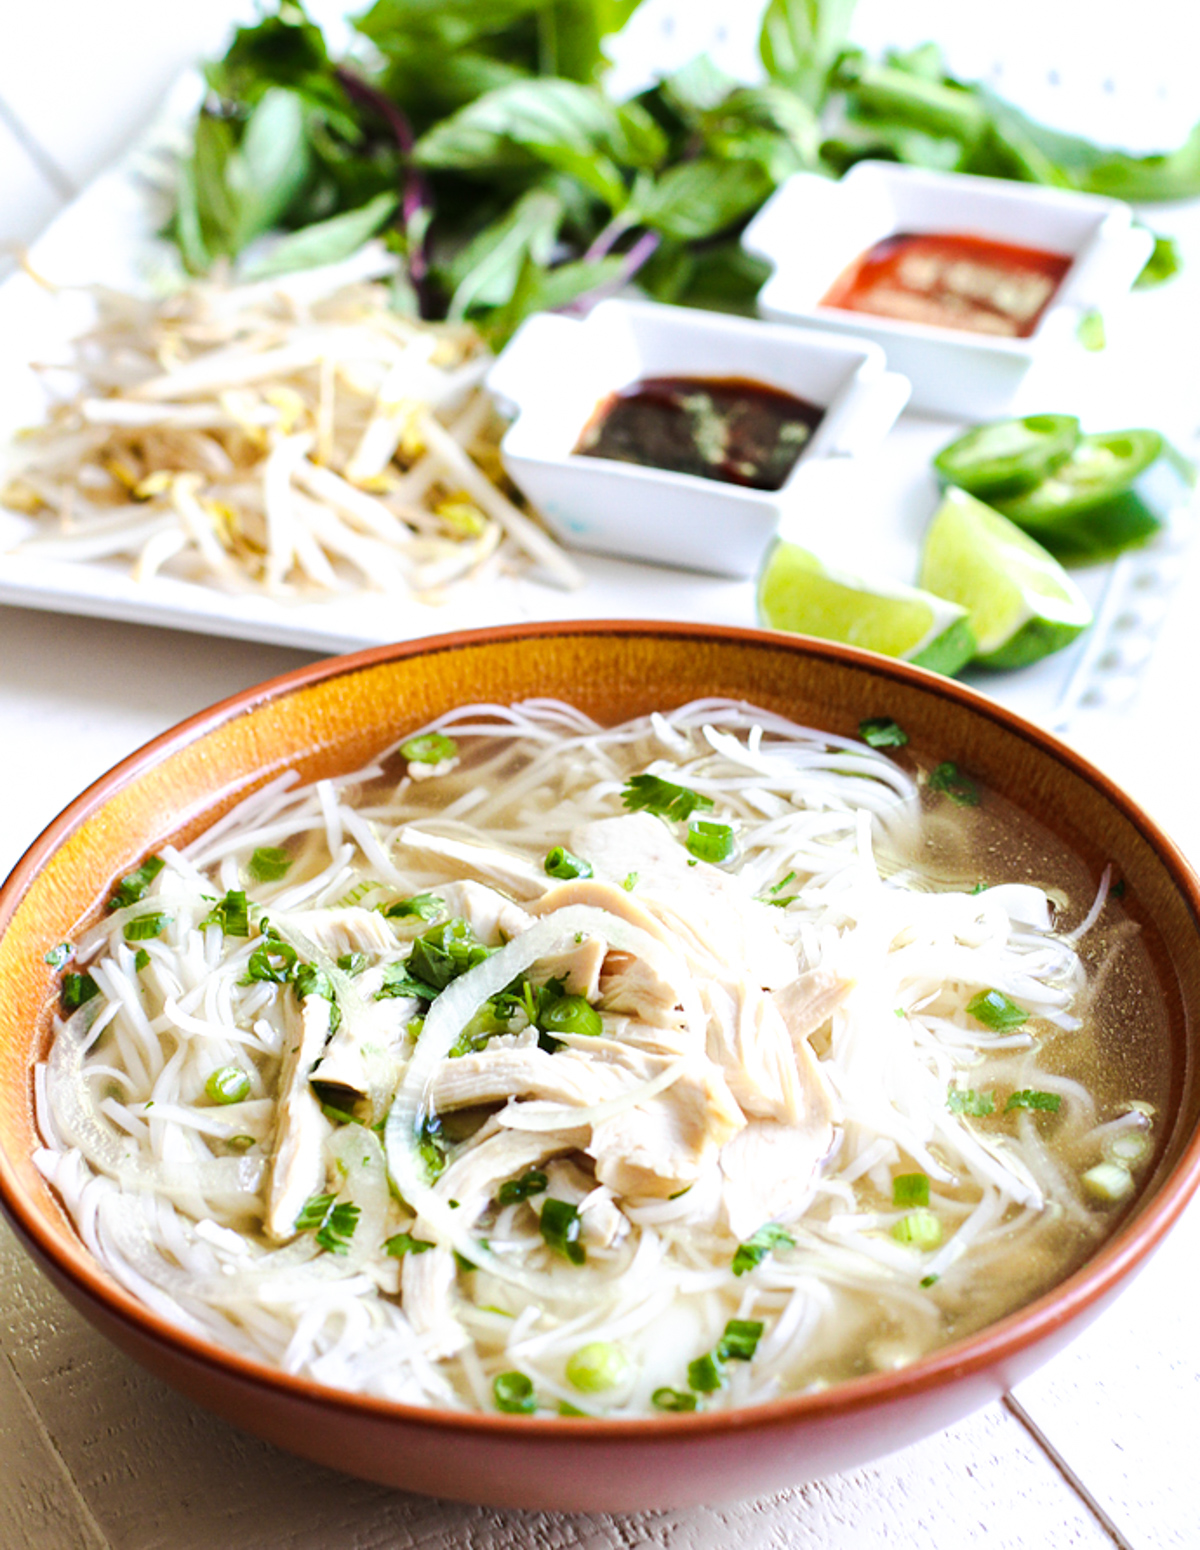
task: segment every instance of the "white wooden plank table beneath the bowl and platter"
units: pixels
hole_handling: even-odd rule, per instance
[[[31,239],[239,6],[57,0],[22,6],[17,17],[9,0],[9,9],[0,242]],[[924,22],[910,9],[922,9]],[[1014,9],[1022,8],[1006,9],[1009,20]],[[940,11],[946,6],[905,6],[905,28],[932,29]],[[878,20],[878,6],[867,12]],[[1191,383],[1200,417],[1200,374]],[[1200,749],[1200,553],[1183,567],[1136,702],[1085,722],[1076,741],[1200,860],[1188,760]],[[70,798],[140,742],[304,660],[245,642],[0,609],[0,876]],[[236,1432],[112,1350],[0,1228],[0,1547],[1200,1545],[1198,1276],[1200,1204],[1065,1355],[940,1437],[741,1507],[557,1517],[402,1496]]]

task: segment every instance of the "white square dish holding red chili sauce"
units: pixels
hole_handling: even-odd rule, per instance
[[[766,318],[874,339],[915,409],[989,418],[1130,288],[1153,237],[1119,200],[860,161],[789,178],[743,243],[775,267]]]

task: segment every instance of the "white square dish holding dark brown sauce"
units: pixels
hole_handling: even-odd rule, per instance
[[[867,339],[619,299],[586,319],[530,318],[487,384],[516,414],[504,467],[564,542],[726,577],[755,574],[781,513],[803,502],[809,470],[878,445],[909,400],[909,383]],[[640,391],[668,401],[670,434],[681,422],[695,429],[690,465],[724,471],[648,467],[640,450],[625,460],[628,440],[602,432]],[[722,418],[721,400],[738,391],[743,403]],[[740,482],[753,477],[733,448],[744,400],[808,411],[778,426],[772,457],[791,442],[792,463],[774,465],[778,488]]]

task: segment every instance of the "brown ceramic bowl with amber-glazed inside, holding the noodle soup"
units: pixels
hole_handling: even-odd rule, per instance
[[[31,1068],[48,1037],[48,946],[112,880],[197,834],[284,767],[364,764],[468,701],[552,694],[602,721],[701,694],[755,701],[829,732],[895,716],[1033,812],[1093,874],[1127,884],[1171,1025],[1163,1153],[1115,1237],[1053,1293],[899,1372],[741,1412],[591,1421],[460,1415],[358,1398],[180,1333],[91,1260],[29,1161]],[[625,1510],[753,1496],[862,1465],[994,1400],[1062,1347],[1146,1260],[1200,1176],[1200,893],[1178,851],[1054,738],[932,674],[840,646],[687,625],[527,625],[321,662],[217,705],[84,792],[0,893],[0,1194],[56,1286],[122,1350],[237,1426],[321,1463],[471,1502]]]

